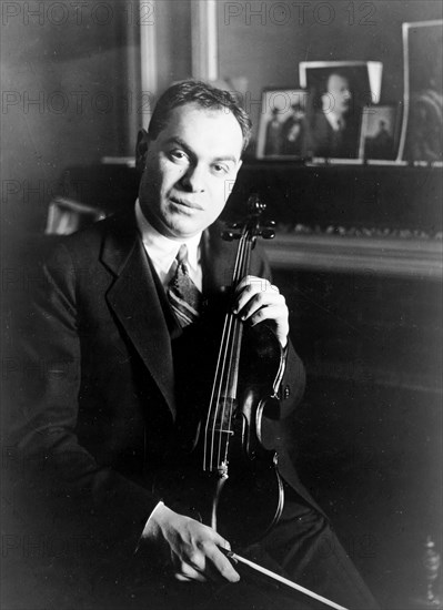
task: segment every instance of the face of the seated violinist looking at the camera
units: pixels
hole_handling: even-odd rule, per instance
[[[174,108],[155,140],[148,139],[141,209],[162,235],[197,235],[221,214],[240,169],[243,136],[228,110],[190,103]]]

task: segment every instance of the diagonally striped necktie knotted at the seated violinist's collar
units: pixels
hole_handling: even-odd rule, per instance
[[[189,276],[185,263],[188,248],[180,246],[175,257],[175,273],[168,285],[168,298],[181,327],[197,321],[200,312],[201,293]]]

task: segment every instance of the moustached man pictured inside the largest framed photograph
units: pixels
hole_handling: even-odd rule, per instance
[[[310,124],[314,156],[352,159],[358,156],[358,125],[351,113],[352,92],[346,77],[332,72],[323,87],[321,110]]]

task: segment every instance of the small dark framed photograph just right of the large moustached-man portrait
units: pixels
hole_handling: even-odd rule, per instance
[[[360,159],[393,161],[396,156],[399,104],[363,109],[360,132]]]

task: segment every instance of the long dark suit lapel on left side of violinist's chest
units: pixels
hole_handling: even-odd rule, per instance
[[[134,218],[115,215],[110,221],[113,230],[107,235],[101,260],[117,277],[107,293],[107,301],[174,415],[174,375],[168,312],[162,308]]]

